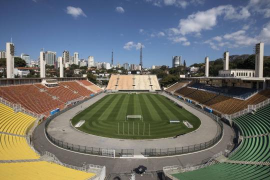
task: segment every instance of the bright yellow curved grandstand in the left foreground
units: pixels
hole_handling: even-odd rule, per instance
[[[14,110],[0,103],[0,179],[88,179],[96,175],[86,172],[86,167],[64,167],[53,155],[43,160],[26,140],[36,118]]]

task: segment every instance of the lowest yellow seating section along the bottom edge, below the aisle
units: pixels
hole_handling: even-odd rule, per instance
[[[47,161],[0,163],[0,179],[88,179],[94,175]]]

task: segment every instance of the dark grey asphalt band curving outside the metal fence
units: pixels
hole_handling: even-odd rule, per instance
[[[181,103],[181,102],[180,102]],[[182,103],[183,104],[183,103]],[[203,114],[203,113],[201,113]],[[199,117],[199,116],[198,116]],[[199,117],[200,118],[200,117]],[[190,164],[201,163],[202,160],[211,157],[212,155],[224,151],[227,147],[227,143],[232,143],[231,137],[234,136],[234,131],[232,128],[223,123],[224,133],[222,139],[215,146],[191,154],[184,154],[178,156],[170,157],[158,157],[158,158],[109,158],[94,156],[88,154],[81,154],[66,149],[61,149],[53,145],[47,140],[44,127],[45,121],[39,124],[33,132],[32,143],[37,151],[49,151],[53,153],[61,162],[75,165],[83,166],[85,164],[96,164],[106,166],[106,175],[110,172],[125,172],[136,168],[139,165],[147,167],[147,170],[159,170],[163,166],[169,165],[181,165],[186,166]],[[154,177],[156,178],[156,177]],[[144,178],[146,179],[146,178]]]

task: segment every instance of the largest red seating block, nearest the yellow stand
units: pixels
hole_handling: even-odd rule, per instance
[[[62,101],[53,99],[47,92],[41,92],[33,84],[1,86],[0,96],[40,114],[64,106]]]

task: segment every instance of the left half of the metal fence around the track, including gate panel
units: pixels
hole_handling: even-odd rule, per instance
[[[68,150],[72,150],[72,151],[75,151],[75,152],[81,152],[81,153],[86,153],[86,154],[93,154],[93,155],[100,155],[102,156],[102,149],[104,150],[104,148],[100,148],[100,147],[88,147],[88,146],[85,146],[85,145],[79,145],[79,144],[72,144],[72,143],[68,143],[68,142],[65,142],[65,141],[62,141],[62,140],[59,140],[59,139],[56,139],[54,137],[52,137],[48,131],[47,131],[47,127],[50,123],[50,121],[52,119],[54,119],[56,116],[66,112],[67,110],[85,102],[86,100],[90,99],[92,97],[88,97],[88,98],[85,98],[83,99],[82,101],[79,101],[75,104],[73,104],[72,106],[69,106],[59,112],[56,112],[55,114],[49,116],[47,119],[46,119],[46,122],[45,122],[45,134],[47,136],[47,138],[55,145],[59,146],[59,147],[62,147],[64,149],[68,149]],[[105,148],[106,149],[106,148]],[[106,149],[107,150],[107,149]],[[120,157],[120,156],[133,156],[134,152],[133,152],[133,149],[114,149],[115,150],[115,157]]]

